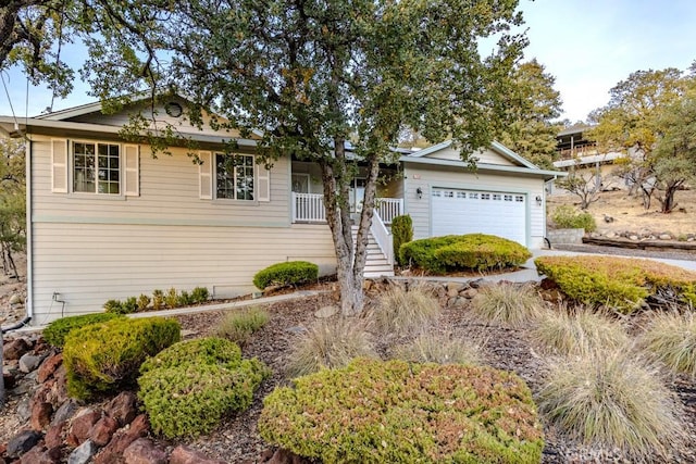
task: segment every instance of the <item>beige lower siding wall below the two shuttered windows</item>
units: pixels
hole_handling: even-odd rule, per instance
[[[44,324],[65,315],[101,311],[110,299],[153,289],[217,288],[217,297],[254,290],[263,267],[307,260],[335,271],[328,227],[172,227],[37,224],[34,233],[34,313]]]

